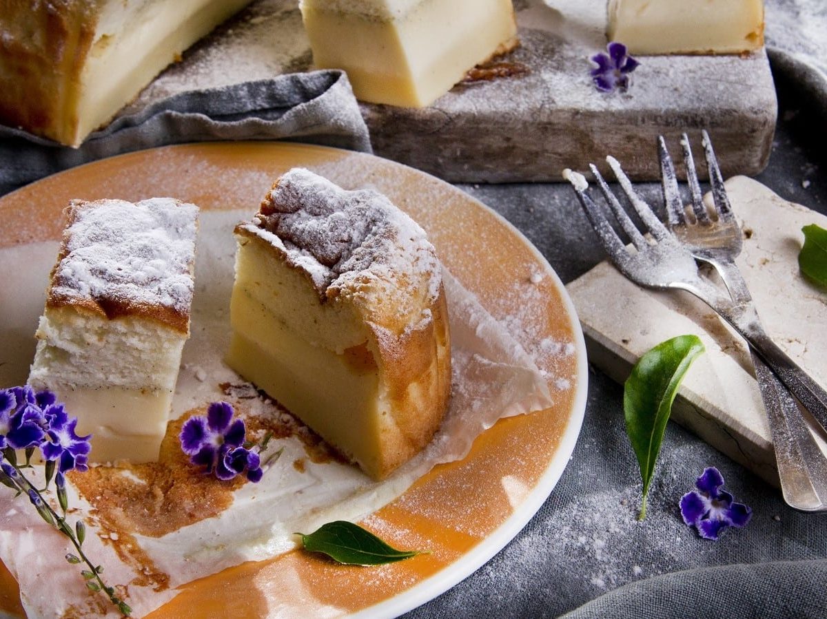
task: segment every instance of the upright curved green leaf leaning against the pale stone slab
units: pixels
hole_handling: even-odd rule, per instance
[[[677,336],[638,359],[624,384],[626,433],[640,464],[643,498],[639,520],[646,517],[646,495],[661,450],[672,402],[692,361],[704,351],[696,336]]]

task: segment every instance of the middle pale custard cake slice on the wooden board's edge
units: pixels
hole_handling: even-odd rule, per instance
[[[320,69],[345,69],[356,98],[425,107],[469,69],[517,44],[511,0],[302,0]]]

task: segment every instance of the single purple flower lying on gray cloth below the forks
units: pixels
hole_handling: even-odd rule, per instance
[[[742,527],[753,516],[753,510],[736,503],[733,496],[722,490],[724,477],[718,469],[704,469],[696,481],[699,492],[692,490],[681,498],[681,516],[688,526],[694,526],[701,537],[717,540],[728,526]]]

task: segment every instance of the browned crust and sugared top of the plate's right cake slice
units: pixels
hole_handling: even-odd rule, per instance
[[[380,461],[357,464],[385,478],[428,444],[450,399],[447,301],[433,245],[380,193],[348,192],[303,169],[276,181],[236,234],[300,274],[319,302],[352,307],[366,324],[369,354],[354,351],[352,361],[372,355],[389,418],[380,423]]]

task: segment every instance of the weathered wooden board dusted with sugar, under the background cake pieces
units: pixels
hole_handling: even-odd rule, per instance
[[[642,57],[626,93],[600,93],[590,56],[605,49],[605,0],[515,0],[520,47],[510,78],[457,85],[430,107],[362,104],[376,155],[452,182],[559,181],[612,153],[657,179],[658,135],[710,131],[724,174],[767,164],[777,102],[767,55]],[[170,94],[312,69],[298,0],[257,0],[184,54],[127,112]]]

